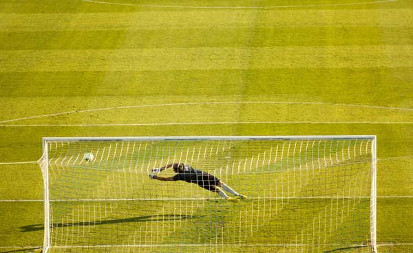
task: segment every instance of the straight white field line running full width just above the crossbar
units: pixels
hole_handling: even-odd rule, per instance
[[[182,123],[114,123],[114,124],[28,124],[0,125],[3,128],[40,127],[98,127],[98,126],[156,126],[156,125],[235,125],[235,124],[412,124],[413,121],[227,121],[227,122],[182,122]]]

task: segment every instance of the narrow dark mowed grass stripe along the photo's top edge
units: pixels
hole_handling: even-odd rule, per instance
[[[103,3],[100,3],[103,2]],[[109,4],[108,4],[109,3]],[[412,3],[404,0],[215,0],[215,1],[137,1],[137,0],[103,0],[103,1],[20,1],[9,0],[0,3],[0,12],[3,13],[72,13],[72,12],[153,12],[153,11],[189,11],[189,10],[265,10],[269,9],[290,9],[297,10],[297,6],[313,6],[311,9],[354,9],[354,8],[377,8],[377,9],[397,9],[410,8]],[[146,6],[146,7],[144,7]],[[153,7],[149,7],[153,6]],[[157,6],[157,7],[156,7]],[[163,6],[163,7],[162,7]],[[177,6],[166,8],[165,6]],[[185,8],[192,6],[193,8]],[[272,7],[270,7],[272,6]],[[280,8],[280,6],[284,6]],[[290,7],[287,7],[290,6]],[[182,8],[183,7],[183,8]],[[237,8],[231,8],[237,7]],[[259,8],[256,8],[259,7]]]

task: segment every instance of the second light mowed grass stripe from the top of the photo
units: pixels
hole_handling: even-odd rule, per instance
[[[0,51],[0,72],[412,68],[413,45]]]

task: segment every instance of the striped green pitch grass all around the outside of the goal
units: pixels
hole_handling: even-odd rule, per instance
[[[413,196],[412,1],[108,2],[0,0],[0,163],[43,136],[377,134],[379,196]],[[0,199],[43,199],[38,165],[0,164]],[[413,251],[412,208],[378,200],[379,252]],[[43,203],[0,218],[0,252],[42,245]]]

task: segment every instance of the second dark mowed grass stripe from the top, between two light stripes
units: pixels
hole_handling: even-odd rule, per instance
[[[409,45],[410,34],[413,27],[13,31],[0,32],[0,50]]]

